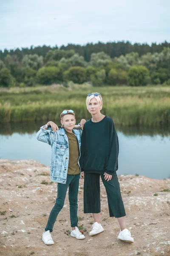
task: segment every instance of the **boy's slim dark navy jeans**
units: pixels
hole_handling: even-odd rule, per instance
[[[59,212],[64,206],[65,196],[68,190],[68,199],[70,204],[70,220],[71,227],[77,227],[78,217],[77,217],[77,200],[78,200],[78,191],[79,191],[79,177],[80,175],[67,175],[66,184],[58,183],[57,184],[57,198],[56,203],[54,204],[53,209],[51,210],[50,216],[48,218],[45,231],[53,231],[54,223],[57,219]]]

